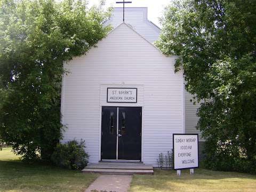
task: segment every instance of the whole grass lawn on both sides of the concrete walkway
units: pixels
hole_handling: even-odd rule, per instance
[[[98,177],[42,164],[26,164],[11,153],[0,151],[0,192],[84,191]],[[181,172],[155,170],[155,175],[134,175],[130,192],[256,192],[256,175],[196,169]]]

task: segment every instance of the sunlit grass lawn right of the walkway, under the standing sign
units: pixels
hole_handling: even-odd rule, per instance
[[[182,170],[181,177],[175,171],[154,170],[155,175],[134,175],[130,192],[253,192],[256,191],[256,175],[237,172],[195,169],[195,175]]]

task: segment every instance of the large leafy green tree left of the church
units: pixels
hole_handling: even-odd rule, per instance
[[[61,139],[63,62],[107,35],[102,5],[0,0],[0,142],[23,158],[50,159]]]

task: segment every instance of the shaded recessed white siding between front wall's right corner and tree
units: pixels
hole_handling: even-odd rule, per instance
[[[190,101],[192,100],[192,102]],[[193,103],[193,95],[189,92],[185,91],[185,129],[186,133],[194,134],[197,133],[199,136],[201,135],[200,131],[196,129],[196,125],[199,117],[197,117],[197,108],[200,107],[201,102],[196,102],[195,105]],[[200,141],[203,141],[201,137],[199,137]]]

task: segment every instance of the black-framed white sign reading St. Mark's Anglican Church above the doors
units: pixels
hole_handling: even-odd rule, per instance
[[[108,88],[107,102],[137,103],[137,88]]]

